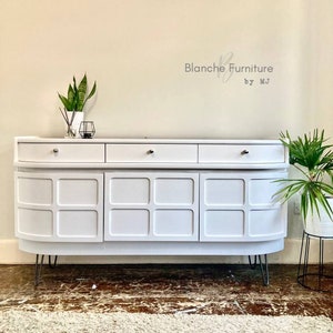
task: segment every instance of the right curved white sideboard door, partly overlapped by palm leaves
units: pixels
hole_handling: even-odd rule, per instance
[[[286,235],[286,209],[272,201],[284,172],[210,172],[200,178],[200,240],[263,241]]]

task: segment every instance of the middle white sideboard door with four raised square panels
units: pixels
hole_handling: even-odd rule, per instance
[[[107,173],[104,239],[198,241],[198,173]]]

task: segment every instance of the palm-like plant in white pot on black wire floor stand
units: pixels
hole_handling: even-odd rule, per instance
[[[333,240],[333,145],[326,143],[324,134],[324,130],[314,130],[293,140],[289,132],[281,133],[280,139],[289,149],[290,164],[297,176],[278,180],[282,188],[274,194],[282,202],[294,196],[300,200],[303,238],[297,282],[316,291],[332,291],[332,283],[325,281],[333,278],[324,272],[324,241]],[[311,240],[319,241],[317,265],[312,268],[309,266]],[[313,271],[315,268],[317,270]]]

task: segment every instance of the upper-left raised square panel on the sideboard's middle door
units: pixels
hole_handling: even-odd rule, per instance
[[[147,178],[112,178],[111,204],[147,204],[150,201],[150,180]]]

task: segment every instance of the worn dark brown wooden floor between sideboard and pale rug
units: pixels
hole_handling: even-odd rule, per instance
[[[329,266],[333,271],[333,265]],[[0,311],[325,315],[332,293],[296,282],[296,265],[270,265],[270,284],[249,265],[0,265]],[[333,286],[333,280],[325,282]]]

